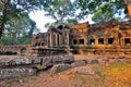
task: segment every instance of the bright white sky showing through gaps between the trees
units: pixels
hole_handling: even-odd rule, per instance
[[[39,28],[41,33],[47,32],[47,28],[44,27],[46,23],[55,22],[52,18],[45,16],[44,13],[45,13],[44,11],[36,11],[36,12],[29,13],[29,17],[36,22],[36,27]],[[92,17],[92,15],[88,15],[87,18],[80,21],[80,23],[84,23],[87,21],[90,23],[93,23],[91,17]]]

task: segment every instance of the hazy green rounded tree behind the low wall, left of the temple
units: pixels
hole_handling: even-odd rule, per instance
[[[35,30],[37,30],[36,23],[27,14],[19,15],[19,18],[11,16],[4,25],[3,44],[29,44]]]

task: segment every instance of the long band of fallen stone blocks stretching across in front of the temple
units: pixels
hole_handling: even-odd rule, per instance
[[[126,57],[119,58],[104,57],[100,59],[88,58],[74,60],[73,54],[35,57],[35,58],[17,57],[10,60],[0,59],[0,79],[34,75],[37,73],[37,71],[39,71],[38,67],[40,70],[47,70],[48,67],[51,67],[50,73],[56,74],[72,67],[75,69],[78,66],[85,66],[86,64],[99,64],[99,63],[106,64],[107,62],[108,63],[127,62],[127,60]],[[81,70],[76,72],[83,73]]]

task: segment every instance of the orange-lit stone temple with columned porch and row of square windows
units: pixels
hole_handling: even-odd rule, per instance
[[[82,23],[73,26],[60,24],[47,33],[34,35],[34,50],[58,53],[131,53],[131,23],[109,21],[98,24]],[[37,48],[37,49],[36,49]],[[41,51],[40,51],[41,52]]]

